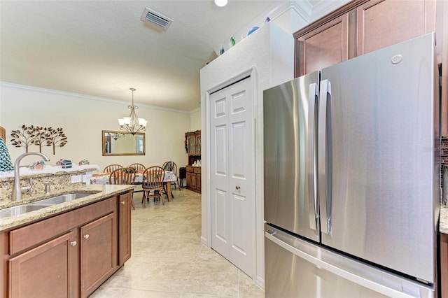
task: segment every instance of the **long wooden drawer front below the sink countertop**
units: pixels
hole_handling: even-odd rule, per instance
[[[116,210],[116,197],[111,197],[97,203],[83,206],[46,220],[41,220],[26,227],[9,232],[9,255],[25,250],[31,246],[51,239],[69,229],[83,225],[92,219],[97,219]]]

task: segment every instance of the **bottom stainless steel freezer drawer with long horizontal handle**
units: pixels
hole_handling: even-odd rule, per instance
[[[265,226],[265,297],[435,297],[433,288]]]

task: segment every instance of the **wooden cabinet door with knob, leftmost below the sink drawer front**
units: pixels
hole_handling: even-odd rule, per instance
[[[8,296],[76,297],[77,252],[76,234],[68,232],[13,257],[8,261]]]

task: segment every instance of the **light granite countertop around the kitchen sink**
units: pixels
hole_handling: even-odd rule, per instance
[[[113,197],[116,194],[127,192],[132,189],[134,189],[134,185],[77,185],[73,187],[67,187],[66,190],[64,190],[64,192],[51,193],[43,197],[31,198],[18,202],[17,201],[0,202],[0,209],[3,209],[11,206],[31,203],[33,201],[46,199],[48,197],[55,197],[59,194],[67,194],[71,192],[92,193],[92,195],[80,199],[75,199],[73,201],[67,201],[65,203],[55,204],[52,206],[41,208],[36,211],[23,213],[21,215],[13,215],[8,218],[0,218],[0,231],[10,229],[13,227],[18,227],[19,225],[23,225],[28,222],[33,222],[35,220],[40,220],[50,215],[62,213],[64,211],[68,211],[70,209],[80,207],[86,204],[91,204],[95,201],[106,199],[107,197]]]

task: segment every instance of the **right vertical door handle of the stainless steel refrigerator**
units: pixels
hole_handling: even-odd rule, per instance
[[[327,132],[327,107],[331,104],[331,84],[329,80],[321,80],[321,92],[319,94],[319,116],[318,116],[318,195],[320,212],[323,222],[321,231],[325,234],[331,233],[331,183],[328,180],[328,133]]]

